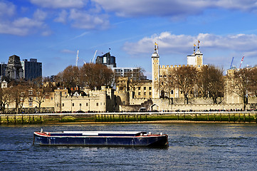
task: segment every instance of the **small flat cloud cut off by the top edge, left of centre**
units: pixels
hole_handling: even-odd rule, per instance
[[[32,4],[51,9],[79,9],[83,8],[86,2],[87,0],[31,0]]]

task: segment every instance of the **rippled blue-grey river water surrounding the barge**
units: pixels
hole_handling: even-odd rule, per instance
[[[169,147],[33,145],[41,128],[167,133]],[[0,125],[0,170],[257,170],[256,161],[256,124]]]

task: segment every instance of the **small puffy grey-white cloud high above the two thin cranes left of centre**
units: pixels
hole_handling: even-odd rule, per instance
[[[75,28],[105,29],[109,27],[108,16],[105,14],[89,14],[87,11],[71,9],[69,19]]]

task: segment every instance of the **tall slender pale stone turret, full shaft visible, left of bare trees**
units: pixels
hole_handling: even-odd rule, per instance
[[[159,99],[159,54],[158,45],[154,45],[154,53],[152,53],[152,98]]]

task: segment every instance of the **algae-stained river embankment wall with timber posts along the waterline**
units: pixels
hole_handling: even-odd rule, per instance
[[[109,123],[187,120],[226,123],[257,123],[257,112],[141,112],[141,113],[31,113],[1,114],[0,124]]]

